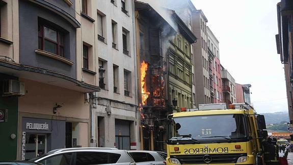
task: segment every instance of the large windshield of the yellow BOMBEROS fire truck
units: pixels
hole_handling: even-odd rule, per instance
[[[215,124],[217,123],[217,124]],[[182,137],[182,138],[180,138]],[[243,114],[221,114],[174,117],[169,123],[169,141],[184,140],[186,137],[201,140],[231,142],[247,138]]]

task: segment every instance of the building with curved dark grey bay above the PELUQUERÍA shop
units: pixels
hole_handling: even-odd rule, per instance
[[[0,159],[27,160],[57,148],[89,147],[85,93],[100,88],[80,74],[78,1],[0,2],[0,109],[6,116],[0,138],[8,148]]]

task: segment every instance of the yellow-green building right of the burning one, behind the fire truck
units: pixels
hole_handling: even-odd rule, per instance
[[[176,36],[170,37],[170,48],[168,49],[167,63],[169,100],[177,101],[179,109],[193,108],[192,103],[192,46],[196,41],[195,35],[176,14],[170,10],[174,21],[177,23],[178,32]]]

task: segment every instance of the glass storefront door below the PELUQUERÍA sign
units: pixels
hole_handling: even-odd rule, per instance
[[[25,136],[25,160],[32,159],[46,153],[46,134],[26,133]]]

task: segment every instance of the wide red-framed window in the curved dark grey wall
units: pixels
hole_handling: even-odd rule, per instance
[[[38,48],[64,57],[64,33],[40,21],[38,25]]]

